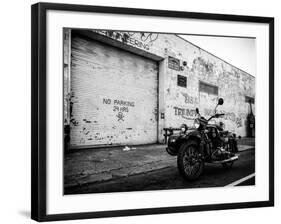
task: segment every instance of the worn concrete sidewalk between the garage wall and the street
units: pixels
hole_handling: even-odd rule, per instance
[[[253,147],[254,139],[238,141],[239,151]],[[65,187],[107,181],[176,166],[177,157],[170,156],[165,148],[166,145],[154,144],[130,148],[123,146],[83,149],[66,154],[64,159]]]

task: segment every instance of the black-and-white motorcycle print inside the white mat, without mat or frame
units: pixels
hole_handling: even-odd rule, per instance
[[[65,195],[255,186],[254,37],[62,32]]]

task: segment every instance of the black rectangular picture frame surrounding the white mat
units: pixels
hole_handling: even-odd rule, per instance
[[[48,10],[75,12],[111,13],[155,17],[177,17],[217,21],[254,22],[269,25],[269,200],[243,203],[211,204],[196,206],[161,207],[148,209],[115,210],[70,214],[46,213],[46,13]],[[238,209],[274,206],[274,18],[195,13],[183,11],[164,11],[136,8],[102,7],[89,5],[37,3],[32,5],[31,13],[31,218],[37,221],[73,220],[86,218],[178,213],[206,210]]]

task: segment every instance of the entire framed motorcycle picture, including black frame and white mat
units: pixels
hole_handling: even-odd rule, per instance
[[[31,15],[32,219],[274,205],[274,18]]]

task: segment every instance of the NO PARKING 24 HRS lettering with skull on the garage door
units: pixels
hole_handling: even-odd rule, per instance
[[[112,110],[116,112],[116,118],[119,122],[125,121],[125,115],[129,113],[130,107],[135,107],[134,101],[124,101],[119,99],[103,98],[102,103],[112,106]]]

